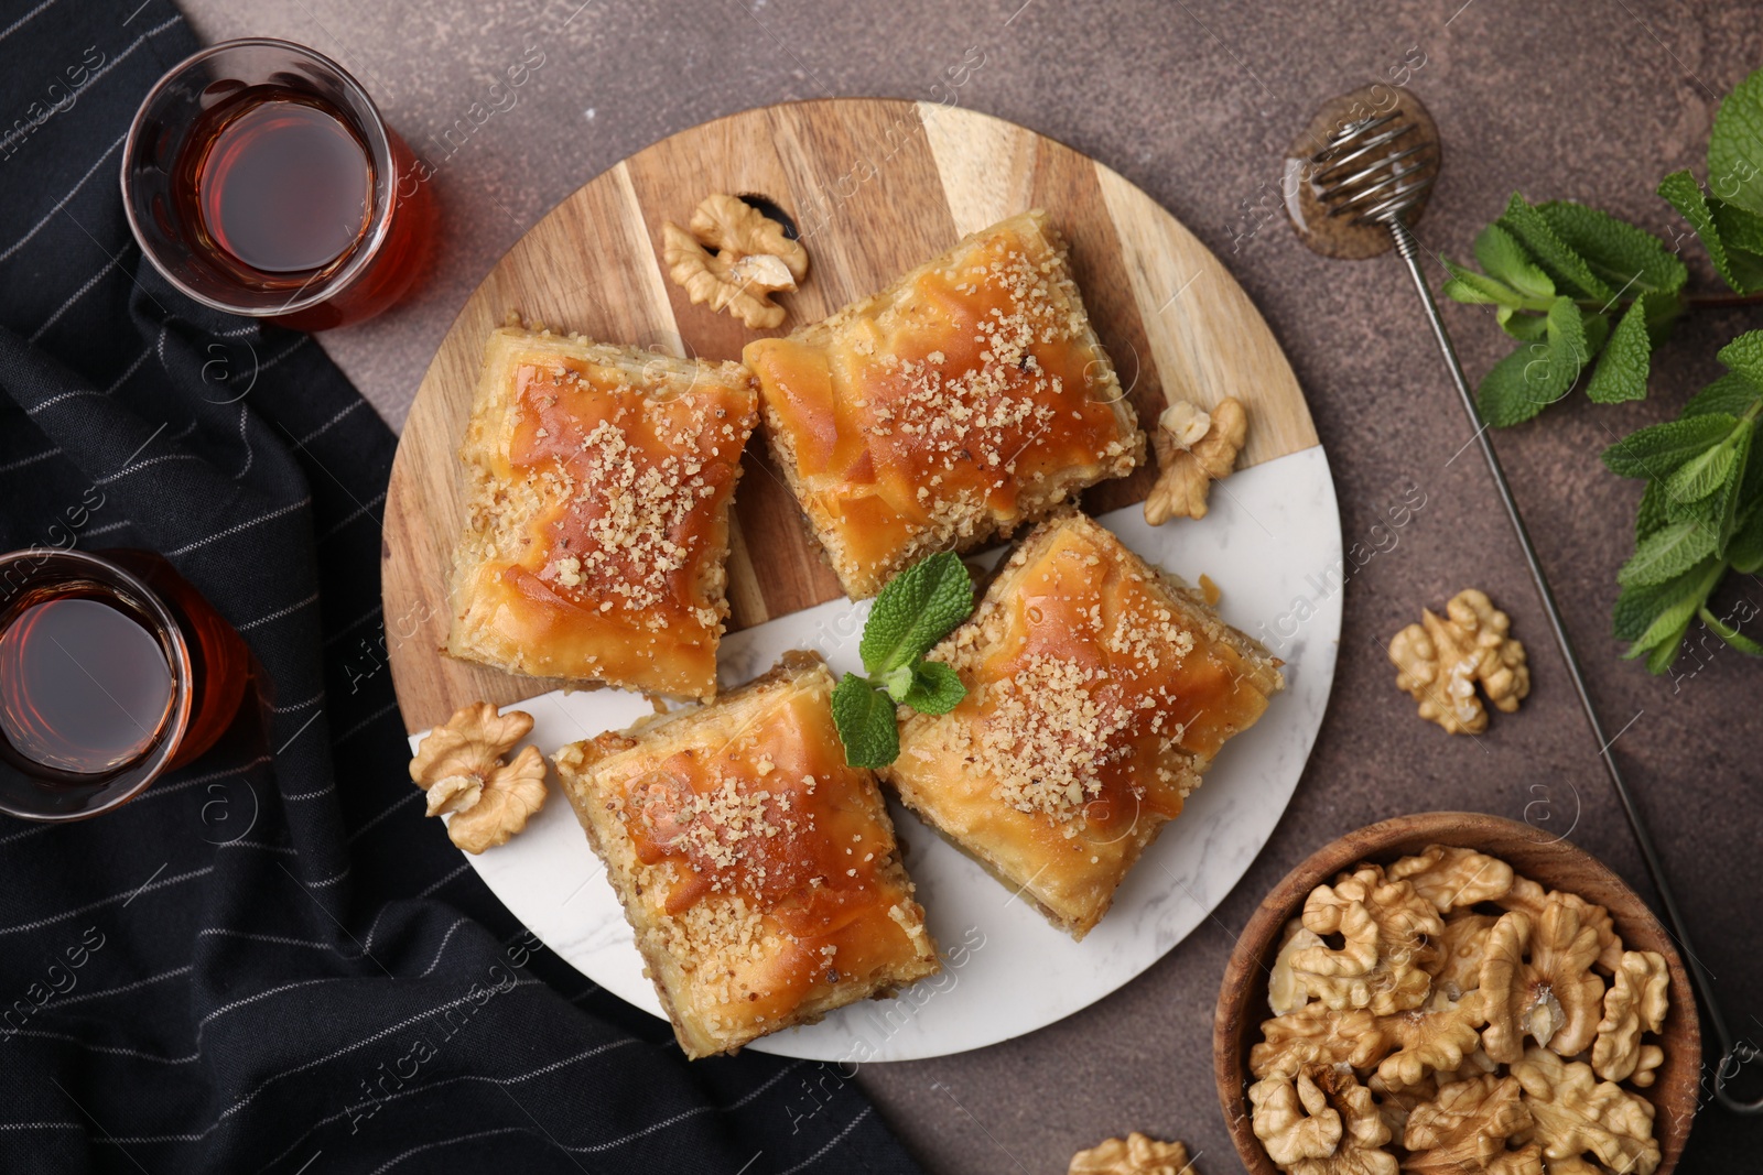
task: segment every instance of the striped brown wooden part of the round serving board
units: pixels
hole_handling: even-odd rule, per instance
[[[686,224],[712,192],[769,197],[800,227],[811,271],[779,298],[786,329],[873,294],[966,233],[1045,208],[1148,432],[1165,393],[1201,407],[1234,395],[1250,419],[1239,469],[1317,444],[1291,365],[1236,280],[1151,197],[1086,155],[931,102],[834,99],[719,118],[638,151],[554,208],[478,285],[423,375],[391,467],[381,567],[386,652],[407,731],[472,701],[508,705],[559,685],[439,652],[464,525],[457,449],[485,336],[518,310],[529,324],[612,344],[739,359],[758,333],[693,307],[661,261],[661,224]],[[728,565],[732,631],[841,595],[758,435],[744,460]],[[1144,467],[1095,486],[1084,506],[1130,506],[1153,481]]]

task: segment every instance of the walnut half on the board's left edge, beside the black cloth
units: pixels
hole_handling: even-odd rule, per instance
[[[508,844],[545,807],[539,749],[522,747],[513,763],[502,763],[531,729],[531,713],[497,713],[480,701],[455,712],[418,743],[411,780],[428,793],[427,816],[451,814],[446,835],[467,853]]]

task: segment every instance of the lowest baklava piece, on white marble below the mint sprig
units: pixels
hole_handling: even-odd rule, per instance
[[[557,752],[688,1057],[934,974],[874,777],[844,765],[815,654]]]

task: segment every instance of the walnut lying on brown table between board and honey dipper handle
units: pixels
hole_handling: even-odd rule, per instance
[[[1493,606],[1486,592],[1465,588],[1446,604],[1440,618],[1421,610],[1389,639],[1389,661],[1400,669],[1396,687],[1419,703],[1423,719],[1446,735],[1479,735],[1488,729],[1488,710],[1476,685],[1502,713],[1514,713],[1530,694],[1525,647],[1507,632],[1513,622]]]

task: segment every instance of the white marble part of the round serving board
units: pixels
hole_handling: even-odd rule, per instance
[[[1335,680],[1343,562],[1328,458],[1319,446],[1232,474],[1213,488],[1211,513],[1201,521],[1148,527],[1137,506],[1100,521],[1190,583],[1201,573],[1211,576],[1224,592],[1224,618],[1285,659],[1285,692],[1225,745],[1181,817],[1164,828],[1114,909],[1082,942],[1049,927],[890,803],[908,846],[906,868],[943,950],[943,972],[894,999],[841,1008],[749,1048],[811,1060],[917,1060],[1033,1032],[1162,958],[1224,900],[1268,842]],[[859,669],[867,610],[834,601],[735,632],[721,650],[725,687],[763,673],[786,648],[815,648],[834,671]],[[520,708],[532,713],[531,742],[547,756],[651,713],[647,699],[622,691],[559,691]],[[561,794],[515,840],[465,860],[550,950],[615,995],[661,1015],[629,923]]]

